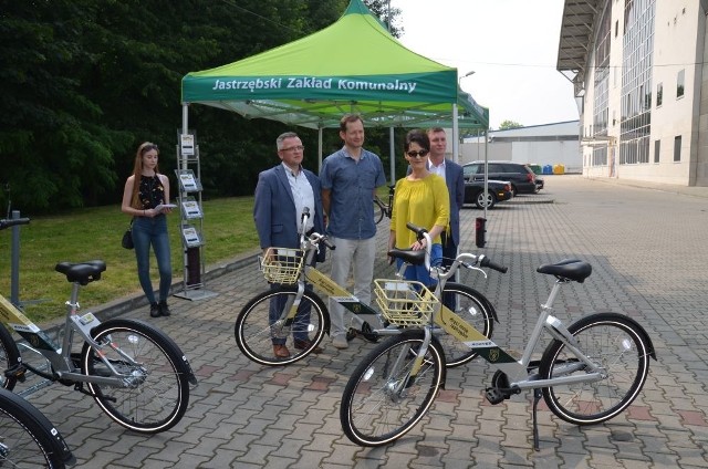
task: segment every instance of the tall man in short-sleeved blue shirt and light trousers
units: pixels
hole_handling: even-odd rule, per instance
[[[377,155],[364,149],[364,122],[347,114],[340,121],[342,149],[322,163],[322,201],[329,216],[327,234],[336,246],[332,251],[332,280],[346,284],[350,268],[354,270],[354,295],[363,303],[372,299],[376,223],[372,202],[377,187],[386,184],[384,167]],[[348,346],[344,325],[344,308],[330,300],[332,344]]]

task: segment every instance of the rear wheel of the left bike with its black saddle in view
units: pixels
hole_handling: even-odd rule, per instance
[[[111,366],[123,377],[119,386],[88,383],[94,399],[108,417],[143,434],[174,427],[189,404],[191,369],[173,340],[156,327],[133,320],[106,321],[91,335],[103,348],[100,355],[84,343],[82,373],[113,376]]]

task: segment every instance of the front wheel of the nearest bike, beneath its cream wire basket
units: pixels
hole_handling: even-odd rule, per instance
[[[424,333],[408,330],[379,344],[350,376],[340,407],[344,434],[360,446],[383,446],[400,438],[433,405],[445,377],[442,352],[434,340],[423,367],[410,367]]]

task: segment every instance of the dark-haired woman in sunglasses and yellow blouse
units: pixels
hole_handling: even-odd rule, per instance
[[[442,259],[440,233],[450,219],[450,198],[445,180],[428,170],[430,139],[420,129],[408,132],[404,146],[405,158],[410,165],[410,174],[396,183],[394,208],[391,216],[388,248],[425,249],[425,239],[416,240],[416,234],[406,228],[407,222],[428,230],[433,239],[430,264],[439,264]],[[402,261],[396,260],[398,267]],[[435,282],[425,265],[408,267],[407,280],[416,280],[424,285]]]

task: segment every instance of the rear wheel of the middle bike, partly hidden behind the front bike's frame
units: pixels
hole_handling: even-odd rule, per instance
[[[491,338],[497,312],[483,294],[467,285],[450,282],[442,291],[442,302],[486,337]],[[452,335],[439,334],[437,337],[445,351],[445,364],[448,368],[464,365],[478,355]]]

